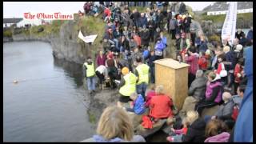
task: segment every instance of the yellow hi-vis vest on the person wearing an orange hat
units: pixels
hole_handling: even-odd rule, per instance
[[[122,86],[119,90],[119,93],[123,96],[130,96],[130,94],[133,94],[136,91],[136,80],[137,77],[133,73],[128,73],[123,77],[126,81],[126,84]]]

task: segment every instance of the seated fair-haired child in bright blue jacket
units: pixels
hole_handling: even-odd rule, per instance
[[[127,111],[130,112],[134,112],[135,114],[144,114],[144,112],[146,111],[145,109],[145,102],[144,102],[144,98],[142,97],[141,94],[130,94],[130,99],[133,100],[133,102],[130,102],[130,107],[126,107]]]

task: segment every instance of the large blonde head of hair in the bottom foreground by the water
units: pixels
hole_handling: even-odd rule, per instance
[[[134,136],[134,127],[125,110],[118,106],[108,106],[98,122],[97,134],[110,140],[122,138],[130,141]]]

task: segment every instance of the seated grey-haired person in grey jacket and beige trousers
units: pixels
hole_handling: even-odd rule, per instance
[[[202,70],[197,70],[196,78],[191,83],[188,91],[189,97],[186,97],[180,114],[186,115],[189,110],[194,110],[194,106],[204,99],[206,94],[206,82],[207,78],[204,77]]]

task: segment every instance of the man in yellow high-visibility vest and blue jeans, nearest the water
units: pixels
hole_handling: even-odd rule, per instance
[[[87,87],[89,93],[92,94],[96,90],[96,77],[95,77],[95,70],[94,70],[94,62],[92,58],[88,57],[87,61],[83,64],[85,68],[85,78],[87,81]]]

